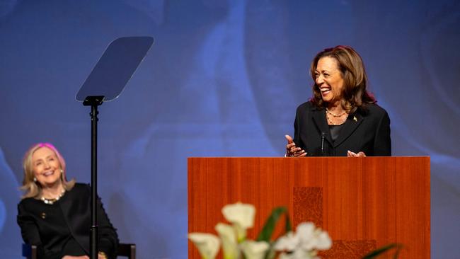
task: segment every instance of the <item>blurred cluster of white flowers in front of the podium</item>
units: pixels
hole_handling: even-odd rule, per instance
[[[326,231],[316,229],[313,223],[299,224],[297,233],[293,233],[285,207],[273,209],[257,241],[246,240],[246,230],[254,226],[255,207],[253,205],[241,202],[226,205],[222,208],[222,214],[231,223],[231,225],[219,223],[215,226],[222,241],[224,259],[272,259],[276,257],[277,251],[280,252],[280,258],[316,258],[316,249],[326,250],[332,245]],[[282,214],[286,214],[285,231],[287,234],[277,241],[272,241],[270,240],[272,232]],[[194,235],[202,236],[197,241]],[[207,235],[207,241],[204,241],[203,236],[205,235]],[[219,243],[217,242],[217,248],[215,245],[210,245],[210,243],[216,243],[214,240],[216,236],[192,233],[189,234],[189,238],[197,246],[202,258],[214,258],[217,254],[214,249],[219,249]]]

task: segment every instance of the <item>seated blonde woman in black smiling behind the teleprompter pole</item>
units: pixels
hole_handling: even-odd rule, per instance
[[[66,165],[49,143],[32,146],[23,160],[25,190],[18,224],[38,258],[88,259],[91,188],[66,180]],[[118,236],[98,199],[98,259],[115,258]]]

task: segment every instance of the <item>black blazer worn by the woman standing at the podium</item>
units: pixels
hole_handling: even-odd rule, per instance
[[[324,136],[324,147],[321,142]],[[338,138],[330,137],[326,110],[306,102],[297,108],[294,143],[307,156],[347,156],[347,151],[363,151],[366,156],[391,156],[390,117],[379,105],[367,105],[348,115]]]

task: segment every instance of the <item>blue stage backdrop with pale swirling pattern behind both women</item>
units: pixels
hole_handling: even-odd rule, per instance
[[[23,153],[52,142],[90,181],[74,100],[115,38],[155,44],[100,106],[99,194],[139,258],[187,257],[187,157],[282,156],[316,52],[351,45],[395,156],[431,156],[432,258],[458,258],[460,2],[0,0],[0,257],[20,258]],[[417,179],[414,179],[417,180]]]

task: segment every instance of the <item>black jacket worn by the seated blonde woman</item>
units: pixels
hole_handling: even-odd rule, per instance
[[[38,258],[61,259],[64,246],[89,254],[91,188],[76,183],[53,205],[26,198],[18,204],[18,224],[25,243],[38,246]],[[115,258],[118,236],[98,198],[98,251]],[[73,237],[73,239],[72,239]],[[76,242],[75,242],[76,241]]]

